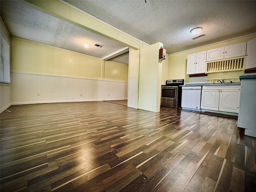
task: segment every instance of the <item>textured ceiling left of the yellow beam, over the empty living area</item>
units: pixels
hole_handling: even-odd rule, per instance
[[[11,36],[97,58],[104,58],[125,47],[15,1],[1,0],[1,18]],[[88,42],[89,48],[84,47],[85,42]],[[127,59],[121,61],[128,64]]]

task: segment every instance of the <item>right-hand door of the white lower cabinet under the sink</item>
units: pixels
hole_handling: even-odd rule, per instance
[[[220,90],[219,111],[238,113],[240,103],[239,90]]]

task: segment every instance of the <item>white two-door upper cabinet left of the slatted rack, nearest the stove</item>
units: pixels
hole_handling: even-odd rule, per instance
[[[187,74],[205,73],[206,51],[188,55]]]

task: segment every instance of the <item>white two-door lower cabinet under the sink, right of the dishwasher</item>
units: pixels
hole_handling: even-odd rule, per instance
[[[203,86],[201,109],[238,113],[240,86]]]

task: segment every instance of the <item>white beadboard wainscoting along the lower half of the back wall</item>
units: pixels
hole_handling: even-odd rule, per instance
[[[11,73],[11,81],[13,105],[124,100],[128,94],[126,82],[16,72]]]

